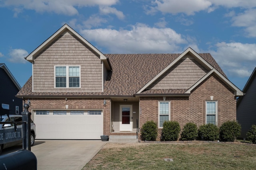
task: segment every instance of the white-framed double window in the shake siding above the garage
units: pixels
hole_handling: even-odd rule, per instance
[[[80,88],[80,66],[55,66],[56,88]]]

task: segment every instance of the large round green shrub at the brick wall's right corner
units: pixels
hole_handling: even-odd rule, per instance
[[[236,121],[227,121],[220,126],[220,140],[234,142],[241,133],[241,125]]]

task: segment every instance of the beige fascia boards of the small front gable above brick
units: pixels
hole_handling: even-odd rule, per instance
[[[208,76],[210,76],[212,73],[216,73],[226,84],[228,84],[228,86],[230,86],[230,88],[232,88],[234,90],[234,96],[243,96],[244,93],[237,88],[232,82],[230,82],[226,77],[224,77],[220,72],[218,72],[218,70],[216,70],[215,68],[213,68],[210,72],[208,72],[207,74],[205,74],[200,80],[198,80],[194,85],[192,85],[185,93],[186,94],[190,94],[191,91],[196,88],[196,86],[198,86],[202,81],[204,81]]]

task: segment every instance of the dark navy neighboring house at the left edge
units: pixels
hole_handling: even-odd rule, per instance
[[[0,63],[0,111],[9,109],[10,114],[22,112],[22,99],[15,97],[21,87],[4,63]]]

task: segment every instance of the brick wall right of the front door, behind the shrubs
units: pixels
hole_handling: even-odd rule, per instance
[[[178,121],[183,128],[188,122],[194,122],[199,127],[206,123],[206,100],[218,101],[218,127],[222,123],[236,120],[236,100],[234,92],[220,79],[212,74],[194,90],[189,97],[166,97],[170,101],[171,120]],[[158,101],[162,97],[140,98],[140,128],[149,120],[158,123]],[[162,129],[158,129],[157,141],[160,141]]]

